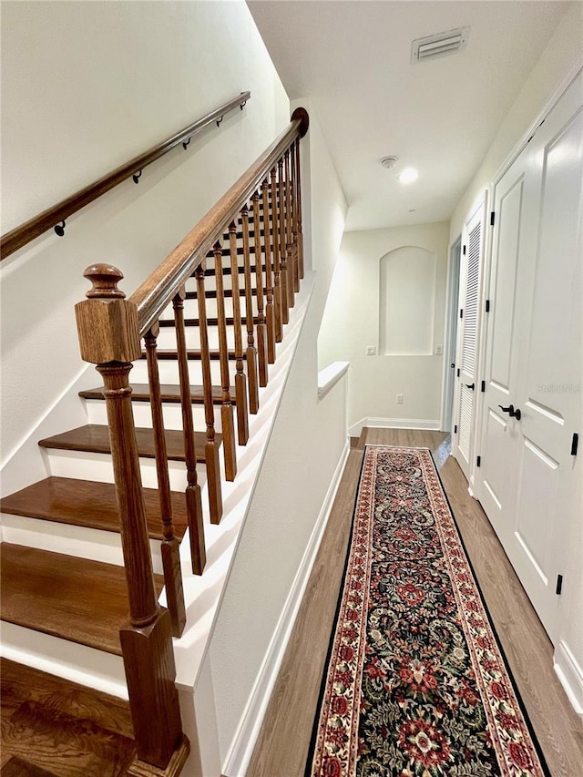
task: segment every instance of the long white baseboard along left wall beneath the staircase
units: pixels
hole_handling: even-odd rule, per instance
[[[247,772],[251,754],[261,730],[263,717],[271,698],[271,691],[281,669],[281,661],[285,655],[289,639],[292,636],[293,624],[302,604],[302,598],[308,585],[308,579],[310,578],[313,563],[322,541],[324,529],[328,523],[334,497],[340,485],[344,465],[349,453],[350,445],[347,438],[338,465],[336,465],[332,475],[332,481],[324,497],[320,515],[313,527],[312,536],[305,549],[302,562],[293,580],[292,588],[271,637],[270,646],[267,649],[261,669],[251,690],[250,698],[241,716],[229,754],[223,764],[222,772],[229,774],[230,777],[245,777],[245,772]]]

